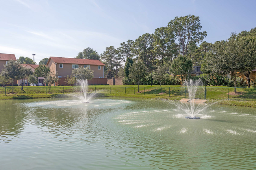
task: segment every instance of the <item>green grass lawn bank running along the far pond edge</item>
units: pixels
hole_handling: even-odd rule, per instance
[[[206,86],[200,87],[197,90],[196,98],[204,99],[206,89],[206,99],[208,101],[217,101],[218,104],[234,105],[234,106],[249,106],[256,107],[256,88],[237,88],[237,93],[234,93],[234,88],[223,86]],[[0,99],[33,99],[54,97],[56,95],[68,93],[80,93],[80,86],[52,86],[51,93],[46,86],[24,86],[14,87],[14,93],[11,94],[12,88],[0,88]],[[180,100],[188,98],[187,88],[182,86],[88,86],[88,91],[97,93],[106,97],[133,97],[133,98],[165,98],[171,100]],[[139,90],[139,92],[138,92]],[[229,98],[229,100],[227,100]]]

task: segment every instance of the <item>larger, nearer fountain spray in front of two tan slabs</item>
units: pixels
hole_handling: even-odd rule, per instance
[[[210,106],[210,104],[203,104],[206,100],[196,99],[197,89],[202,85],[203,83],[201,79],[195,81],[192,79],[184,81],[184,86],[186,86],[189,93],[189,98],[183,100],[185,102],[177,103],[176,106],[188,114],[188,116],[186,116],[187,119],[200,119],[200,117],[197,117],[197,114]],[[202,102],[200,103],[200,101]]]

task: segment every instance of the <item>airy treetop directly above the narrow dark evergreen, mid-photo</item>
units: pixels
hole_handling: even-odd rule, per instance
[[[122,58],[122,60],[125,62],[126,58],[133,58],[134,57],[134,51],[133,51],[133,46],[134,46],[134,41],[133,40],[128,40],[125,42],[122,42],[120,44],[120,47],[117,48],[118,55]]]

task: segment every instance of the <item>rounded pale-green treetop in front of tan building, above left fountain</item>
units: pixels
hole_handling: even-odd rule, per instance
[[[93,79],[93,70],[89,68],[80,67],[71,71],[71,76],[76,77],[78,80],[91,80]]]

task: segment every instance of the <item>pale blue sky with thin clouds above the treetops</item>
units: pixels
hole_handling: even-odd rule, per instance
[[[135,40],[176,16],[200,17],[206,42],[256,27],[256,0],[0,0],[0,53],[74,58]]]

